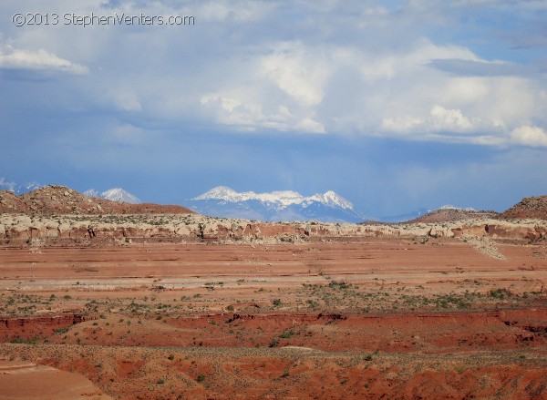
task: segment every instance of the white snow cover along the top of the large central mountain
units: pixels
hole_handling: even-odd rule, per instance
[[[254,191],[238,193],[226,186],[217,186],[192,200],[224,200],[230,202],[258,200],[265,203],[276,203],[279,206],[279,210],[283,210],[292,204],[301,204],[303,207],[307,207],[313,202],[320,202],[329,207],[353,210],[353,204],[351,202],[337,195],[332,190],[329,190],[324,194],[316,193],[313,196],[304,197],[300,193],[292,190],[272,191],[270,193],[255,193]]]

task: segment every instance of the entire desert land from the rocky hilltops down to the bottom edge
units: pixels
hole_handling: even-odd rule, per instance
[[[408,223],[0,191],[0,398],[547,398],[547,196]]]

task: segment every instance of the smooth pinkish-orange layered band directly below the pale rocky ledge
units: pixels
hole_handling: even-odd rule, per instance
[[[547,282],[546,247],[498,245],[502,260],[455,239],[426,244],[368,239],[302,245],[5,248],[0,249],[0,290],[116,290],[113,295],[120,295],[160,286],[192,291],[208,286],[208,282],[222,281],[222,293],[228,293],[243,288],[325,283],[330,278],[371,288],[423,285],[435,293],[457,291],[470,281],[482,282],[481,292],[496,286],[511,288],[511,292],[534,292],[541,291]]]

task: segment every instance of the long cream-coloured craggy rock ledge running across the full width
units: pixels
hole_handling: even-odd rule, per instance
[[[444,223],[350,224],[257,222],[203,217],[199,214],[29,216],[0,215],[4,241],[314,241],[342,237],[488,237],[539,240],[547,221],[466,220]]]

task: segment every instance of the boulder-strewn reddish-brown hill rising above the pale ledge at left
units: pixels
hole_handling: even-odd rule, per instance
[[[129,204],[89,198],[66,186],[51,185],[16,196],[0,190],[0,212],[50,214],[189,214],[193,211],[181,206],[151,203]]]

